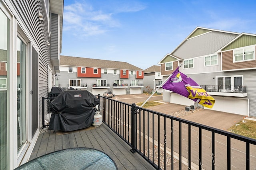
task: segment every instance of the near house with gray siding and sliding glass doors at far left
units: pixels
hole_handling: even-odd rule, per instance
[[[63,0],[0,1],[0,169],[28,161],[54,85]]]

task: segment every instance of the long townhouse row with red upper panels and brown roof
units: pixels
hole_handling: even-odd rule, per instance
[[[88,90],[94,95],[142,94],[144,70],[120,61],[60,56],[56,86]]]

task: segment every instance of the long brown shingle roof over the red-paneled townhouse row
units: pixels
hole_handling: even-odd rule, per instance
[[[109,61],[100,59],[89,59],[82,57],[60,56],[60,66],[81,66],[81,67],[96,67],[96,68],[112,68],[125,70],[142,70],[132,64],[121,61]]]

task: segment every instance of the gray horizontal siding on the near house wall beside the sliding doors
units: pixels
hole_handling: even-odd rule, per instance
[[[43,0],[36,1],[10,1],[21,22],[25,25],[25,32],[32,38],[30,41],[39,49],[39,84],[38,84],[38,99],[39,99],[39,117],[40,125],[42,125],[42,97],[48,96],[48,65],[53,69],[50,61],[50,36],[48,31],[48,14],[45,9]],[[44,22],[40,22],[38,18],[38,10],[44,17]]]

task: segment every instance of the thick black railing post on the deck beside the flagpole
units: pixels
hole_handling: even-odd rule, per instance
[[[131,136],[132,136],[132,140],[131,140],[131,145],[132,145],[132,153],[135,153],[136,151],[136,104],[132,104],[132,114],[131,114]]]

